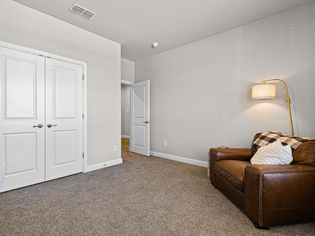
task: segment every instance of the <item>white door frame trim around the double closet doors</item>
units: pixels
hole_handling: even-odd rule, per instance
[[[14,50],[25,52],[25,53],[30,53],[30,54],[35,54],[35,55],[42,56],[42,57],[62,60],[62,61],[66,61],[66,62],[70,62],[73,64],[78,64],[78,65],[83,66],[83,77],[84,77],[84,79],[83,79],[83,114],[84,114],[84,118],[83,118],[83,153],[84,153],[83,173],[88,172],[89,170],[88,170],[88,146],[87,146],[87,140],[88,140],[88,137],[87,137],[87,133],[88,133],[87,132],[87,124],[88,124],[88,118],[87,118],[87,101],[88,101],[88,99],[87,99],[87,79],[88,79],[87,78],[87,62],[65,58],[62,56],[42,52],[39,50],[34,50],[31,48],[22,47],[19,45],[15,45],[15,44],[3,42],[3,41],[0,41],[0,46],[4,47],[4,48],[14,49]]]

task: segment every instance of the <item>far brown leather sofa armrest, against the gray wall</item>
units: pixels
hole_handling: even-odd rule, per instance
[[[250,161],[252,158],[251,148],[211,148],[210,149],[210,180],[215,185],[214,166],[221,160]]]

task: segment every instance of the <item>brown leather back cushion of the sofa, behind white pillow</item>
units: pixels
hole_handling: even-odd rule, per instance
[[[256,139],[262,133],[258,133],[254,136],[252,143],[256,141]],[[252,146],[251,148],[252,154],[254,155],[257,151],[256,148]],[[302,164],[302,165],[311,165],[315,166],[315,141],[307,141],[301,144],[292,152],[293,161],[291,164]]]

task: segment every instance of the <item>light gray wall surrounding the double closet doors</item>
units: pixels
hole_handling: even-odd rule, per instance
[[[0,41],[87,62],[88,166],[120,159],[121,45],[14,1],[0,5]]]

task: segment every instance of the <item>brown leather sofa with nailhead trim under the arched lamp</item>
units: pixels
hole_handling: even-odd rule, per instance
[[[315,221],[315,141],[296,148],[289,165],[252,165],[255,152],[253,147],[211,148],[212,184],[244,210],[256,228]]]

